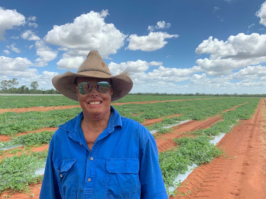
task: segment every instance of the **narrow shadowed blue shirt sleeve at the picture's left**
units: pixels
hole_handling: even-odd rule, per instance
[[[62,199],[52,162],[52,153],[48,153],[39,199]]]

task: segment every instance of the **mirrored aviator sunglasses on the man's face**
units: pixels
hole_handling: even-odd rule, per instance
[[[92,89],[93,84],[101,93],[107,93],[110,89],[110,84],[108,82],[81,82],[77,85],[77,90],[80,94],[85,95]]]

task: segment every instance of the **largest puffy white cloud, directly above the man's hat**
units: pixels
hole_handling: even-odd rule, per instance
[[[109,54],[117,53],[124,45],[126,35],[117,30],[114,24],[105,23],[107,15],[108,10],[82,14],[72,23],[53,26],[44,40],[53,45],[84,50],[87,53],[90,50],[98,50],[102,58],[108,58]]]

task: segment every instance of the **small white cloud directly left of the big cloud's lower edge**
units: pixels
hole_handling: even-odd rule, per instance
[[[46,46],[42,40],[35,42],[36,55],[39,58],[35,59],[35,66],[47,66],[47,62],[54,60],[57,57],[58,51]]]

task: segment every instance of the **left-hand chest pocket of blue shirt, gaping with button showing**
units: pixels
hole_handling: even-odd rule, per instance
[[[75,187],[75,163],[76,159],[69,159],[54,164],[62,198],[75,199],[77,197]]]

